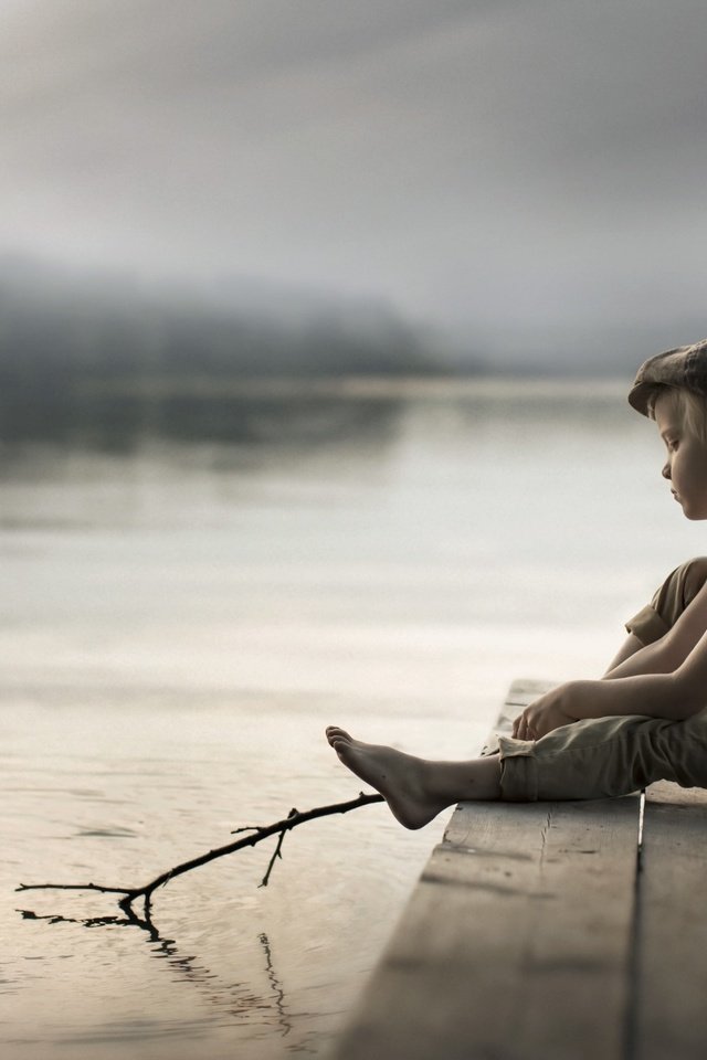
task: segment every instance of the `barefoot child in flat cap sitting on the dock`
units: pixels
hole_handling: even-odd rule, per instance
[[[686,518],[707,519],[707,339],[642,364],[629,402],[657,424],[662,475]],[[433,762],[336,727],[327,740],[407,828],[464,799],[602,798],[658,780],[707,787],[707,559],[673,571],[626,628],[601,680],[536,700],[499,754]]]

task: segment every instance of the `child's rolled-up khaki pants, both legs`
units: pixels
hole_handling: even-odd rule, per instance
[[[707,560],[666,577],[626,628],[642,644],[665,636],[707,580]],[[500,736],[500,797],[509,802],[627,795],[654,781],[707,787],[707,711],[685,721],[640,714],[562,725],[536,742]]]

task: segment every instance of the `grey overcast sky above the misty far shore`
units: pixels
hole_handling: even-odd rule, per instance
[[[705,0],[2,0],[0,251],[707,335]]]

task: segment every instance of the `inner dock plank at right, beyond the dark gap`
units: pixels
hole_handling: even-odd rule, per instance
[[[641,855],[636,1056],[707,1054],[707,793],[654,784]]]

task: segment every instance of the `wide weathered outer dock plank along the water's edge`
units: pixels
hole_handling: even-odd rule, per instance
[[[619,1060],[637,805],[460,805],[337,1060]]]

